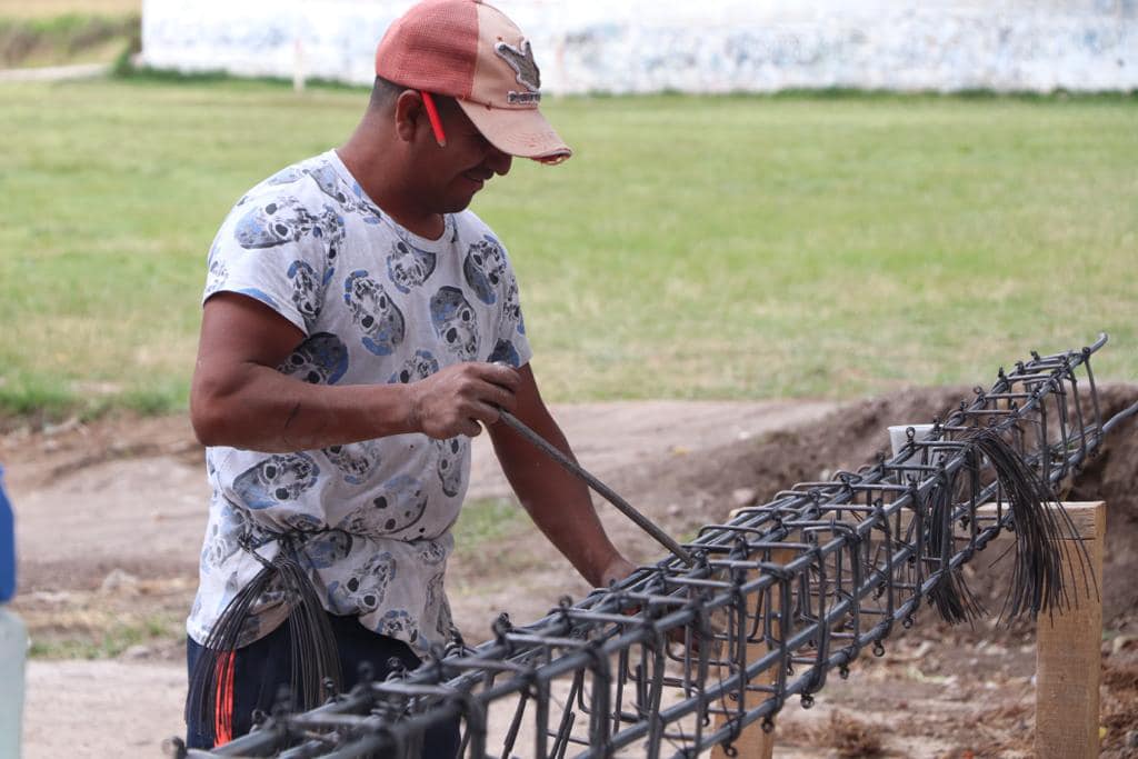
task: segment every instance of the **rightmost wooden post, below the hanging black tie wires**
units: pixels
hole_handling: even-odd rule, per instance
[[[1065,503],[1090,556],[1083,583],[1078,545],[1064,552],[1064,580],[1073,608],[1040,614],[1036,638],[1036,756],[1083,759],[1098,756],[1098,679],[1103,641],[1103,541],[1106,505],[1102,501]],[[1073,541],[1072,541],[1073,543]],[[1090,592],[1087,592],[1087,585]],[[1097,591],[1097,592],[1096,592]]]

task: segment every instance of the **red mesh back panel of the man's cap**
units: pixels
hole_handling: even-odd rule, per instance
[[[376,74],[417,90],[469,98],[478,48],[476,0],[427,0],[391,24]]]

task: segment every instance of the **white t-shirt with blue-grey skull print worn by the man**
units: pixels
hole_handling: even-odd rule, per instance
[[[445,218],[437,240],[412,234],[330,150],[238,201],[209,251],[203,302],[238,292],[289,320],[305,338],[278,369],[314,385],[415,382],[465,361],[527,363],[505,249],[473,213]],[[420,654],[446,642],[443,575],[470,471],[467,437],[398,435],[284,454],[215,446],[206,471],[213,496],[187,621],[193,640],[206,640],[287,534],[328,611],[357,616]],[[288,613],[270,586],[240,644]]]

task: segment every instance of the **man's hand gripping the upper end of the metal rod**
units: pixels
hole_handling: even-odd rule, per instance
[[[473,437],[479,422],[493,424],[498,410],[513,411],[521,379],[504,364],[463,363],[447,366],[407,386],[411,426],[429,437]]]

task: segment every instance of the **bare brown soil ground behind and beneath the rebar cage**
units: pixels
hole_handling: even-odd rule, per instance
[[[857,469],[887,451],[888,424],[927,421],[970,396],[966,388],[909,389],[840,407],[643,402],[555,406],[554,414],[586,468],[669,534],[691,537],[797,481]],[[1110,416],[1138,401],[1138,386],[1110,386],[1100,397]],[[476,439],[470,497],[506,495],[484,438]],[[180,628],[208,495],[188,420],[19,429],[0,436],[0,461],[17,513],[15,609],[36,646],[25,756],[158,756],[162,740],[182,729]],[[1108,504],[1102,756],[1138,757],[1138,419],[1114,430],[1067,498]],[[597,509],[634,561],[659,556],[622,515]],[[588,589],[536,529],[519,530],[505,550],[460,552],[452,563],[450,595],[470,642],[485,638],[502,611],[527,621],[561,595]],[[1006,587],[999,564],[971,575],[982,596],[998,599]],[[931,614],[916,622],[889,640],[885,657],[863,658],[849,680],[827,683],[814,709],[787,704],[776,756],[1030,756],[1033,627],[949,627]],[[88,658],[61,658],[75,655]]]

